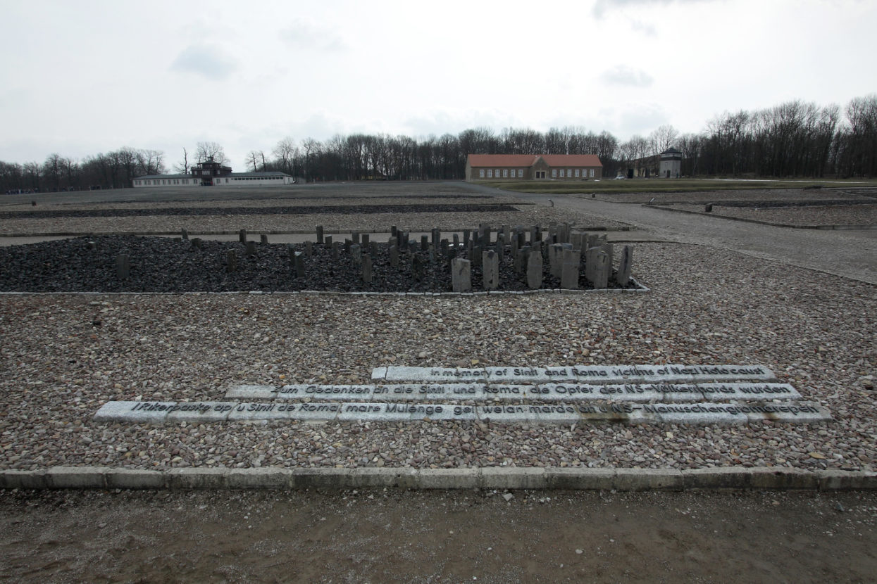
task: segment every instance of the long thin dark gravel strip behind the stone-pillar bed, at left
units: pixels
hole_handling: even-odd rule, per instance
[[[505,204],[467,205],[331,205],[325,207],[167,207],[132,209],[57,209],[4,211],[0,219],[60,219],[71,217],[145,217],[160,215],[369,215],[375,213],[496,213],[517,212]]]

